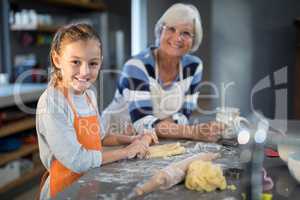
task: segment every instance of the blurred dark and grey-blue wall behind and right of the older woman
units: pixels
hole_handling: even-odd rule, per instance
[[[204,62],[204,80],[211,81],[219,97],[212,99],[214,109],[225,101],[227,106],[241,108],[243,114],[251,113],[252,105],[267,117],[293,117],[293,69],[296,57],[296,32],[293,20],[300,16],[297,0],[189,0],[148,1],[148,39],[154,42],[154,25],[162,13],[173,3],[192,3],[200,10],[204,38],[196,54]],[[273,73],[288,66],[287,84],[274,85]],[[255,86],[266,78],[270,87],[255,92]],[[283,81],[284,82],[284,81]],[[227,87],[224,98],[222,87]],[[216,94],[212,87],[203,87],[202,93]],[[279,89],[279,90],[278,90]],[[276,93],[278,92],[278,93]],[[285,98],[285,95],[288,98]],[[276,95],[279,96],[275,100]],[[253,102],[251,102],[251,98]],[[277,102],[276,102],[277,101]],[[285,110],[289,109],[289,113]]]

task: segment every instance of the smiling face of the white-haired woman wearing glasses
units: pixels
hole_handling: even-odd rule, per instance
[[[193,45],[193,24],[179,23],[163,26],[160,49],[170,56],[180,57],[188,53]]]

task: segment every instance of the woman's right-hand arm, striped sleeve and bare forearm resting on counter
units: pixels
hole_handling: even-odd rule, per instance
[[[184,68],[186,70],[184,76],[190,79],[190,82],[188,90],[185,92],[182,108],[170,118],[155,123],[155,132],[160,138],[193,139],[210,142],[214,142],[219,138],[219,133],[223,129],[221,124],[210,122],[189,125],[188,122],[192,112],[199,108],[197,100],[203,66],[201,60],[196,59],[196,61]],[[188,71],[192,73],[189,74]]]

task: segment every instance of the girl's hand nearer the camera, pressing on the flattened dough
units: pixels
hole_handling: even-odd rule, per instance
[[[131,159],[136,156],[139,158],[145,157],[148,147],[143,144],[140,140],[134,140],[130,145],[125,147],[127,158]]]

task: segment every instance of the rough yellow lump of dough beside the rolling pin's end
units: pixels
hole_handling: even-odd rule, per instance
[[[219,165],[211,161],[193,161],[185,177],[185,187],[199,192],[211,192],[216,189],[226,189],[227,183]]]

